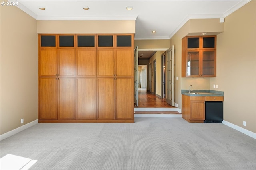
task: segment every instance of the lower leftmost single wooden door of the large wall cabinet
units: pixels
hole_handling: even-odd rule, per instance
[[[39,120],[57,120],[58,78],[39,78]]]

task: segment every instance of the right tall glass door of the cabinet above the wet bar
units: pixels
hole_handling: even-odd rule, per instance
[[[203,51],[202,52],[202,76],[216,76],[215,67],[215,51]]]

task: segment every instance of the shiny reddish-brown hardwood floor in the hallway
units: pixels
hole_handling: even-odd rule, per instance
[[[158,98],[156,95],[146,92],[146,90],[139,91],[139,106],[136,108],[175,108],[166,102],[166,99]]]

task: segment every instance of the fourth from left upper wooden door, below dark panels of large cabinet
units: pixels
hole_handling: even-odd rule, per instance
[[[97,50],[97,76],[113,77],[115,76],[114,49]]]

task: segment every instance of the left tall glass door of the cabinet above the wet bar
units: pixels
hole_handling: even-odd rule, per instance
[[[187,76],[198,76],[199,75],[199,51],[188,51],[187,52]]]

